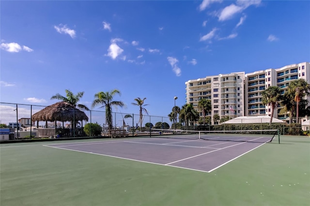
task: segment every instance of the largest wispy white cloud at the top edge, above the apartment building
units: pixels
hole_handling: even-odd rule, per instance
[[[251,5],[260,5],[261,0],[237,0],[236,4],[231,4],[226,6],[218,15],[219,21],[225,21],[232,18],[235,14],[241,13],[243,10],[247,9]]]

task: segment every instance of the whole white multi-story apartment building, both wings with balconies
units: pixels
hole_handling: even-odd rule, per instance
[[[192,104],[198,110],[201,98],[210,99],[212,111],[208,116],[218,114],[225,116],[259,116],[271,114],[270,105],[263,105],[262,92],[269,86],[278,86],[282,94],[294,79],[306,79],[310,83],[310,63],[286,65],[278,69],[265,69],[245,74],[234,72],[220,74],[201,79],[192,79],[186,84],[186,103]],[[275,118],[289,118],[289,113],[280,114],[282,108],[277,105]],[[202,112],[199,111],[201,116]]]

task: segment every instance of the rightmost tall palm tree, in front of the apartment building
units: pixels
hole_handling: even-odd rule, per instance
[[[305,79],[296,79],[289,85],[289,90],[294,93],[294,101],[296,102],[296,123],[299,122],[299,102],[304,96],[310,96],[310,84]]]

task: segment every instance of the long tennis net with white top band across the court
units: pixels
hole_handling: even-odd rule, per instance
[[[210,140],[231,142],[272,142],[275,137],[279,139],[279,130],[226,130],[226,131],[197,131],[180,129],[151,129],[150,137],[188,139],[188,140]]]

